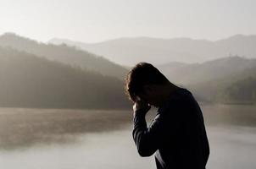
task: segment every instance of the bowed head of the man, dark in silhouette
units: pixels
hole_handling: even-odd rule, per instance
[[[159,106],[163,89],[170,81],[159,69],[150,63],[137,63],[125,79],[125,93],[133,102],[143,100],[152,106]]]

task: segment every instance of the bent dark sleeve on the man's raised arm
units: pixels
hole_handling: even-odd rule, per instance
[[[174,134],[177,123],[171,119],[170,112],[158,113],[153,122],[147,128],[147,123],[143,112],[134,114],[134,128],[132,136],[136,144],[139,155],[150,156],[159,149],[159,146]]]

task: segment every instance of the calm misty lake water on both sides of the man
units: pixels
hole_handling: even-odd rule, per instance
[[[201,106],[209,169],[256,168],[256,106]],[[153,111],[147,116],[150,123]],[[155,168],[131,137],[131,111],[0,109],[0,168]]]

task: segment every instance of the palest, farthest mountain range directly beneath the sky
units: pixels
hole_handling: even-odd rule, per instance
[[[142,61],[153,64],[203,63],[230,55],[256,58],[256,35],[234,35],[220,41],[136,37],[92,44],[54,38],[49,43],[77,46],[127,66]]]

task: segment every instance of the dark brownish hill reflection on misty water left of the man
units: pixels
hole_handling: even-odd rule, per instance
[[[0,150],[69,144],[76,135],[124,128],[131,118],[131,111],[2,108]]]

